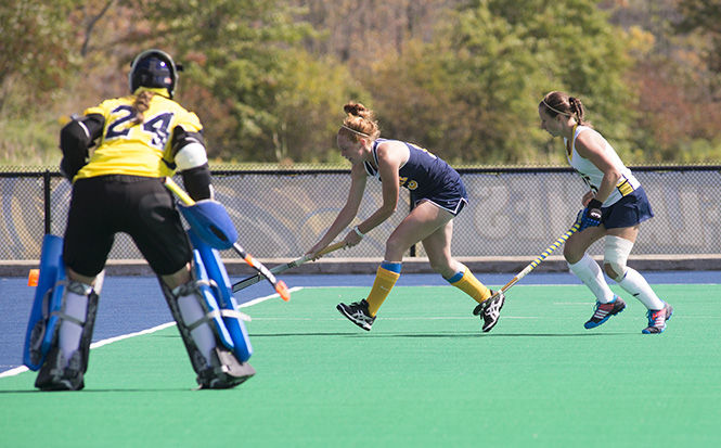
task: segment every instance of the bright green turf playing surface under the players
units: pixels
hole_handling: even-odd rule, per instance
[[[449,286],[399,286],[366,333],[335,310],[365,287],[305,289],[244,311],[257,375],[192,391],[168,328],[91,351],[86,388],[0,379],[5,447],[721,445],[721,285],[657,285],[675,313],[642,335],[643,306],[584,330],[584,286],[515,286],[479,333]]]

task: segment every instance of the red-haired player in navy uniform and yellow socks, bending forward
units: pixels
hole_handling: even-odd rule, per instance
[[[493,293],[467,267],[451,257],[453,218],[467,203],[461,176],[424,149],[378,138],[381,131],[373,111],[362,104],[350,102],[344,111],[347,116],[338,130],[337,143],[343,156],[352,164],[350,192],[336,219],[308,253],[318,254],[352,222],[369,176],[382,182],[383,204],[346,234],[347,245],[360,243],[366,233],[396,212],[401,187],[410,190],[413,209],[388,238],[385,259],[368,297],[349,305],[342,303],[338,311],[370,331],[381,305],[400,277],[403,254],[421,242],[432,268],[481,305],[482,331],[490,331],[498,321],[503,295],[488,300]]]

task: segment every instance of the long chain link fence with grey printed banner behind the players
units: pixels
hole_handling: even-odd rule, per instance
[[[721,254],[721,167],[632,167],[656,217],[642,225],[636,255]],[[570,168],[459,169],[469,205],[454,220],[456,257],[536,257],[563,234],[581,208],[585,187]],[[258,258],[296,258],[327,229],[345,204],[349,170],[217,170],[216,199],[234,220],[239,242]],[[180,179],[178,179],[180,180]],[[182,182],[180,181],[180,184]],[[62,235],[70,183],[59,172],[0,172],[0,259],[40,257],[42,235]],[[369,179],[357,223],[382,203],[381,182]],[[356,247],[329,257],[383,256],[385,241],[410,208],[401,191],[396,214]],[[343,234],[339,236],[342,238]],[[593,255],[603,247],[596,243]],[[419,244],[408,254],[424,256]],[[223,253],[234,258],[232,252]],[[112,259],[141,259],[126,234]]]

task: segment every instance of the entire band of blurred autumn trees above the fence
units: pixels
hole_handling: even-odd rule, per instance
[[[376,110],[384,136],[456,164],[562,163],[536,116],[552,89],[580,95],[634,163],[721,153],[718,1],[48,4],[0,3],[7,161],[56,155],[57,116],[125,93],[131,57],[153,47],[185,64],[178,98],[227,162],[337,161],[340,106],[353,99]]]

